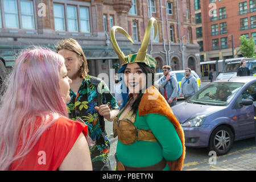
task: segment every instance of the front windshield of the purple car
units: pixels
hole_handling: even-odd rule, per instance
[[[213,82],[199,90],[188,102],[226,106],[232,101],[242,85],[241,82]]]

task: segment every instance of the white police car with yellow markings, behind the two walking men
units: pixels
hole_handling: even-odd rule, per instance
[[[191,71],[192,75],[196,77],[197,80],[197,84],[200,87],[201,85],[201,78],[196,74],[195,71]],[[179,71],[171,71],[170,72],[171,76],[174,76],[178,82],[178,88],[180,90],[180,84],[181,84],[181,79],[185,76],[185,70],[179,70]],[[163,73],[156,73],[155,74],[155,80],[156,83],[158,83],[158,81],[160,80],[160,78],[162,78],[164,75]],[[178,94],[179,97],[179,94]]]

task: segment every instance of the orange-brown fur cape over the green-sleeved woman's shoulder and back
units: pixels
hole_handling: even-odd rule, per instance
[[[165,115],[172,122],[172,125],[174,125],[182,143],[183,152],[179,159],[167,163],[169,164],[171,171],[181,171],[185,159],[184,131],[179,121],[172,113],[171,107],[168,105],[164,97],[158,92],[158,89],[156,89],[154,86],[147,88],[139,104],[140,116],[152,113]]]

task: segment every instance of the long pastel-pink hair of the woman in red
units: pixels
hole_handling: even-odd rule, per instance
[[[0,170],[8,170],[14,160],[28,154],[57,118],[68,117],[60,96],[63,64],[61,55],[44,48],[27,49],[16,59],[1,99]]]

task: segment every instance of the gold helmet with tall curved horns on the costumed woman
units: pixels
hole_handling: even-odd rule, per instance
[[[119,26],[112,27],[111,33],[110,33],[112,46],[115,50],[115,53],[117,53],[119,59],[121,60],[122,65],[141,62],[141,63],[145,63],[149,67],[156,68],[156,60],[154,59],[154,57],[147,55],[147,47],[148,47],[149,40],[151,38],[151,30],[153,26],[154,26],[154,39],[155,39],[156,33],[158,31],[158,23],[156,22],[155,18],[151,17],[147,23],[147,28],[142,40],[141,48],[139,48],[138,53],[133,53],[127,56],[125,56],[125,54],[121,51],[121,49],[117,44],[117,40],[115,40],[115,31],[118,31],[121,34],[125,35],[126,38],[129,39],[132,43],[134,43],[133,39],[131,39],[130,35],[127,34],[127,32],[122,27],[119,27]]]

